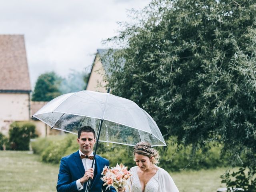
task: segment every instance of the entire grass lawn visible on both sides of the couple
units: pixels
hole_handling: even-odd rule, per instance
[[[0,192],[56,191],[59,165],[45,164],[30,152],[0,151]],[[180,192],[216,192],[225,168],[171,173]]]

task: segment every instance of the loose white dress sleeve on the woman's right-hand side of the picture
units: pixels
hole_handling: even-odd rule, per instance
[[[179,192],[170,174],[159,168],[159,191],[161,192]]]

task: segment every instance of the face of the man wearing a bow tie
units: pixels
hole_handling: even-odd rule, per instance
[[[80,138],[77,138],[77,142],[79,144],[80,151],[85,155],[90,155],[96,139],[92,132],[82,132]]]

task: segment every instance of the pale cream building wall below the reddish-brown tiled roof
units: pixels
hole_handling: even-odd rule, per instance
[[[7,135],[14,121],[29,121],[28,93],[0,93],[0,132]]]

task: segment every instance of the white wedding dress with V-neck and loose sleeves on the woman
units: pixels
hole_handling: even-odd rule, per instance
[[[132,176],[129,186],[126,186],[126,192],[142,192],[137,168],[138,166],[130,168]],[[144,192],[179,192],[168,172],[160,167],[157,168],[156,174],[148,181]]]

